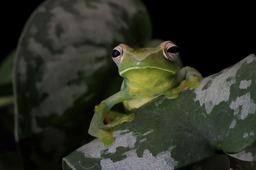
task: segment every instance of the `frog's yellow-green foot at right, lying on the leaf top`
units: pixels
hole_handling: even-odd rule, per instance
[[[199,86],[200,79],[202,79],[202,77],[189,75],[186,80],[181,81],[177,87],[171,88],[171,90],[167,91],[164,95],[167,96],[167,99],[176,99],[181,91],[184,91],[187,88],[193,90]]]

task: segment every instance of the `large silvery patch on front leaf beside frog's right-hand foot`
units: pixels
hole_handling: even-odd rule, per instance
[[[196,97],[194,101],[198,100],[200,106],[204,104],[207,114],[211,113],[215,105],[222,101],[227,102],[229,99],[230,86],[236,83],[236,72],[240,69],[241,65],[244,63],[248,64],[254,60],[256,60],[254,55],[249,55],[236,65],[224,69],[219,75],[212,75],[202,79],[200,85],[195,88]]]

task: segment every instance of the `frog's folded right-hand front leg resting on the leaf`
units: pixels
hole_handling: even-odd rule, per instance
[[[189,90],[195,89],[199,85],[200,79],[202,79],[202,75],[195,68],[186,66],[179,71],[177,81],[180,84],[175,88],[171,88],[164,95],[167,96],[167,99],[175,99],[181,91],[187,88]]]

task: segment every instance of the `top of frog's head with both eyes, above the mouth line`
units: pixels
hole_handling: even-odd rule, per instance
[[[112,51],[112,59],[117,64],[122,77],[131,70],[147,68],[156,68],[177,74],[179,71],[178,56],[179,49],[171,41],[162,42],[155,48],[142,49],[132,49],[126,44],[119,44]]]

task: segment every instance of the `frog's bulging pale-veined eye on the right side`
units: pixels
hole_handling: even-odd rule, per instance
[[[171,41],[168,41],[163,48],[164,57],[168,60],[176,61],[179,57],[178,47]]]

